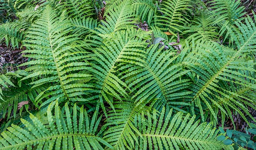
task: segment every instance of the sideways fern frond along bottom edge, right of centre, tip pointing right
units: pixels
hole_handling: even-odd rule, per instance
[[[182,112],[173,115],[172,110],[165,112],[165,109],[159,116],[156,110],[153,117],[149,113],[145,115],[138,116],[135,123],[141,133],[135,149],[228,149],[216,139],[219,131],[212,129],[213,124],[199,124],[195,116],[184,116]]]

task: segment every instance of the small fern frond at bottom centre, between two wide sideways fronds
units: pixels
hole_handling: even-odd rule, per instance
[[[108,118],[103,129],[109,127],[104,132],[103,139],[111,144],[116,150],[124,150],[128,145],[133,145],[137,141],[136,133],[140,134],[135,127],[135,118],[142,111],[149,111],[145,105],[136,106],[133,100],[125,99],[116,101],[115,111],[108,112]],[[138,142],[138,141],[137,141]]]

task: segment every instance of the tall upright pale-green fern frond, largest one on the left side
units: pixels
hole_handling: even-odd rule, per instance
[[[66,35],[72,31],[72,25],[68,20],[60,21],[61,24],[54,10],[47,6],[42,17],[28,31],[25,41],[28,49],[24,53],[34,60],[22,64],[31,65],[26,69],[30,74],[22,80],[34,78],[35,81],[30,83],[33,87],[52,84],[37,96],[36,104],[44,98],[47,101],[43,105],[57,98],[60,101],[84,101],[86,99],[81,96],[81,92],[86,94],[86,91],[92,90],[92,86],[80,82],[91,78],[88,74],[91,68],[83,61],[88,54],[85,47],[89,47],[90,43],[77,42],[79,38],[75,34]],[[77,72],[81,70],[87,70],[87,73]]]

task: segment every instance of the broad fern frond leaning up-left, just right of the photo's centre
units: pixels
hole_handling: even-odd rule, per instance
[[[182,101],[191,93],[184,90],[188,88],[189,80],[181,79],[189,71],[183,70],[181,64],[173,64],[176,59],[174,55],[156,44],[147,49],[142,65],[124,67],[121,79],[127,78],[131,93],[134,93],[132,99],[137,105],[153,98],[157,99],[154,104],[156,109],[168,105],[183,111],[174,105],[190,105]]]

